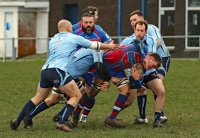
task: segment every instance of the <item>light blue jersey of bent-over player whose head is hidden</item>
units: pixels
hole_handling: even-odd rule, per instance
[[[103,50],[99,50],[98,54],[100,59],[103,56]],[[67,71],[74,78],[77,79],[81,75],[87,73],[94,64],[95,50],[81,48],[76,51],[73,56],[69,58]],[[84,60],[83,60],[84,59]]]

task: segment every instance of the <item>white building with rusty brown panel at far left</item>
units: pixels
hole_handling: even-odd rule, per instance
[[[0,57],[47,52],[49,0],[0,0],[0,17]]]

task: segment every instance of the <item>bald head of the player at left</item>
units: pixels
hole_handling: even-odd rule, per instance
[[[59,32],[72,32],[72,24],[68,20],[60,20],[58,22]]]

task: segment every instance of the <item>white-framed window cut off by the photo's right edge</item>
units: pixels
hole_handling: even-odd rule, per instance
[[[186,48],[199,48],[200,44],[200,1],[186,0]]]

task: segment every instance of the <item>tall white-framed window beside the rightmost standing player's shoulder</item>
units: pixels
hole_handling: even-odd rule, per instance
[[[158,27],[163,36],[166,46],[174,46],[174,13],[175,0],[159,0],[159,23]]]

